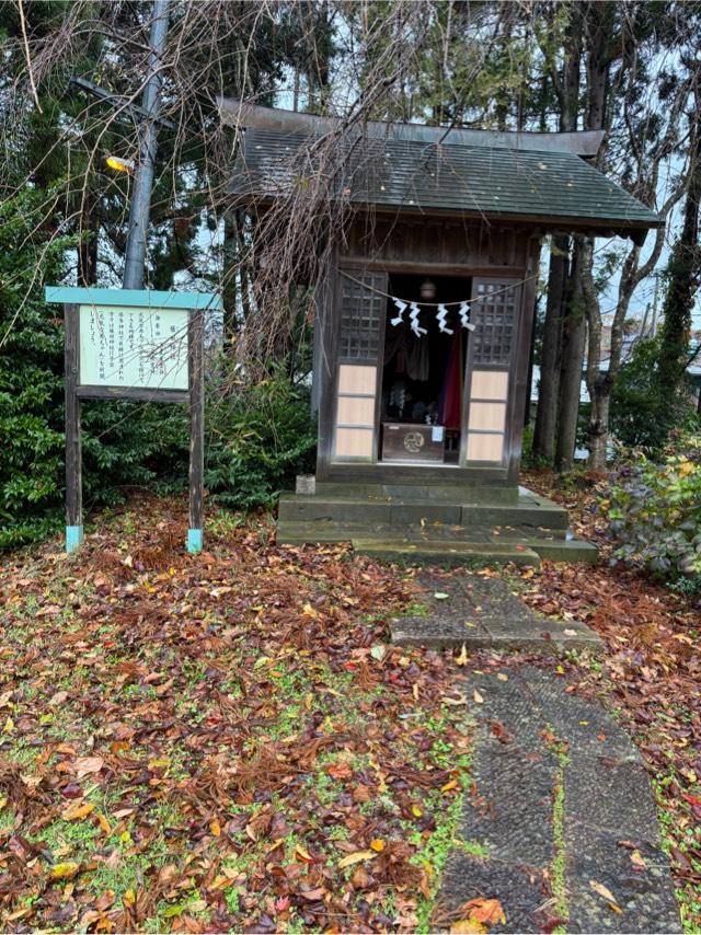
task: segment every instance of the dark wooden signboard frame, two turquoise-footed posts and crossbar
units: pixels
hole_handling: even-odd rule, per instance
[[[187,551],[203,547],[204,501],[204,311],[188,309],[187,390],[99,386],[80,382],[80,304],[64,305],[66,395],[66,551],[83,540],[81,406],[83,400],[189,403],[189,528]]]

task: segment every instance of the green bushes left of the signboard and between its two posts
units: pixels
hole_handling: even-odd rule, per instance
[[[0,205],[0,549],[42,539],[64,516],[64,323],[44,286],[60,282],[76,242],[44,230],[43,198]],[[87,509],[125,485],[186,480],[182,406],[83,405]]]

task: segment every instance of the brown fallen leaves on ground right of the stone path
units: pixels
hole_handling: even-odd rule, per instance
[[[578,498],[539,489],[578,518],[579,531],[601,544],[593,488]],[[533,477],[529,476],[531,486]],[[577,500],[577,503],[575,503]],[[543,563],[524,598],[536,611],[585,621],[606,642],[596,665],[567,665],[567,676],[597,693],[631,732],[653,778],[665,845],[690,931],[701,928],[701,599],[675,593],[620,565]]]

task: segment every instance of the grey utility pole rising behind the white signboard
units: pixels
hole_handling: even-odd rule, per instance
[[[145,114],[140,126],[139,161],[134,173],[131,205],[129,206],[129,224],[127,229],[127,245],[124,257],[125,289],[143,288],[143,265],[146,263],[146,240],[151,211],[151,189],[156,166],[156,147],[158,142],[159,111],[161,107],[161,59],[165,49],[168,36],[168,18],[170,0],[153,0],[153,19],[149,39],[148,81],[141,99],[141,111]]]

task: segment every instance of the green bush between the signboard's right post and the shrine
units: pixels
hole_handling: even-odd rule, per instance
[[[314,465],[317,429],[309,390],[281,368],[253,386],[237,386],[225,370],[226,390],[212,390],[207,407],[205,486],[210,498],[239,509],[272,506],[295,475]]]

